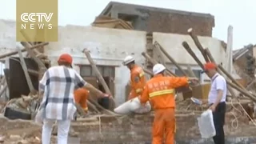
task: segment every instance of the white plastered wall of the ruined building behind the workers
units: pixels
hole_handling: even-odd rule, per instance
[[[4,27],[4,28],[2,28]],[[8,51],[15,48],[15,29],[13,22],[0,20],[0,51]],[[194,53],[203,61],[202,54],[194,46],[194,42],[189,35],[181,34],[161,34],[154,33],[154,40],[157,40],[173,58],[181,64],[196,65],[186,50],[182,47],[182,42],[190,44]],[[208,47],[218,63],[224,58],[224,50],[221,42],[215,38],[199,37],[202,46]],[[19,44],[18,44],[19,45]],[[6,49],[2,47],[6,46]],[[134,55],[136,62],[142,65],[145,59],[141,53],[146,46],[146,32],[135,30],[114,30],[91,26],[65,26],[59,28],[58,42],[50,42],[46,46],[45,52],[54,64],[59,54],[69,53],[74,57],[74,64],[89,64],[82,50],[88,48],[92,58],[98,65],[117,66],[115,76],[115,95],[118,104],[124,102],[125,86],[129,81],[130,72],[122,66],[122,59],[126,55]],[[10,50],[9,50],[10,51]],[[198,66],[195,66],[198,69]]]

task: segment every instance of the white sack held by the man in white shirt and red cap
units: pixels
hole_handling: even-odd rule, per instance
[[[198,127],[202,138],[212,138],[216,135],[214,116],[211,110],[204,111],[198,118]]]

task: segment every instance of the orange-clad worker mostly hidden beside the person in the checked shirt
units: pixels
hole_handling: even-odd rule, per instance
[[[74,101],[78,103],[85,112],[88,111],[87,98],[89,97],[90,91],[86,89],[74,90]]]

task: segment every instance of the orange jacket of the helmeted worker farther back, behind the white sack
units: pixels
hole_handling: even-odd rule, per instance
[[[130,70],[130,85],[131,91],[129,99],[142,94],[143,88],[146,85],[146,76],[140,66],[135,65],[133,69]]]

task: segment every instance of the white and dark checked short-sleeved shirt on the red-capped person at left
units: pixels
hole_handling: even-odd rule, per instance
[[[85,85],[75,70],[66,66],[50,67],[39,82],[39,91],[43,92],[42,118],[72,120],[76,112],[74,90]]]

